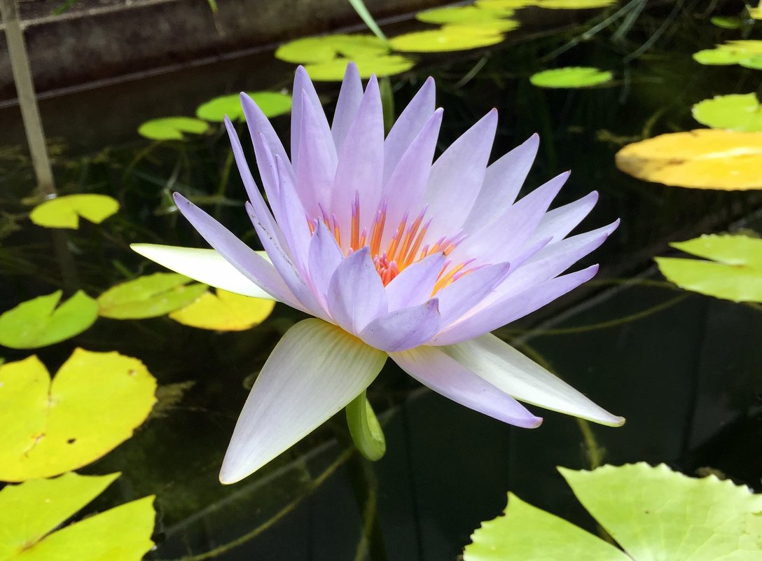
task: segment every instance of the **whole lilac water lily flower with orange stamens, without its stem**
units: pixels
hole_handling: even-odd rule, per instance
[[[548,210],[568,173],[516,200],[536,135],[488,165],[493,110],[432,164],[442,120],[433,79],[385,138],[374,77],[363,90],[357,68],[347,67],[329,125],[300,67],[289,158],[254,101],[241,100],[267,203],[229,120],[226,127],[266,255],[180,194],[178,208],[213,249],[133,246],[203,283],[314,316],[293,325],[264,364],[222,482],[243,479],[341,411],[387,357],[443,396],[511,425],[542,421],[517,400],[623,423],[489,333],[593,277],[597,265],[565,271],[617,225],[567,237],[597,200],[593,192]]]

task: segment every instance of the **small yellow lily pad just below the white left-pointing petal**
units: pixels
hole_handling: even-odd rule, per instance
[[[272,300],[241,296],[218,288],[216,294],[203,293],[194,303],[172,312],[169,317],[199,329],[245,331],[264,322],[274,307]]]

